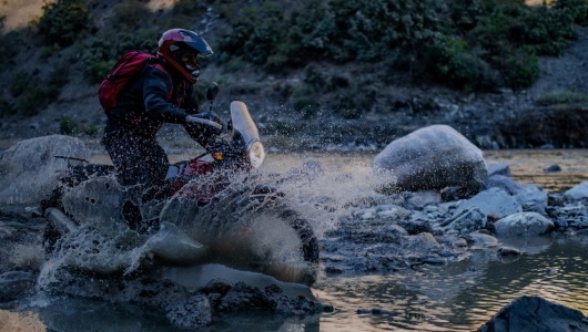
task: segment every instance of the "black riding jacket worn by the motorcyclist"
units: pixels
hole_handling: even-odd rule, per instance
[[[146,68],[116,98],[104,135],[132,131],[140,136],[155,137],[165,122],[185,124],[186,115],[199,111],[192,86],[175,70],[168,71],[161,63]]]

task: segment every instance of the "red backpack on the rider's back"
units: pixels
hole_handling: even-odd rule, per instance
[[[107,114],[116,106],[116,97],[129,82],[151,64],[156,64],[156,59],[141,51],[129,51],[122,55],[98,90],[100,105]]]

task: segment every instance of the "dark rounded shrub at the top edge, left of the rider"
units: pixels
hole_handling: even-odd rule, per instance
[[[71,45],[88,28],[88,8],[83,0],[58,0],[43,6],[43,15],[37,24],[48,42]]]

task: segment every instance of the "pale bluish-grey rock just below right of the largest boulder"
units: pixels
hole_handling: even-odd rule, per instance
[[[496,212],[500,218],[523,211],[517,200],[499,188],[490,188],[464,201],[455,209],[454,216],[459,216],[469,207],[477,207],[486,216]]]

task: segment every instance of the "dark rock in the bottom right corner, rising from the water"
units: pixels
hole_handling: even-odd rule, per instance
[[[578,310],[539,297],[521,297],[496,313],[478,332],[588,331],[588,319]]]

